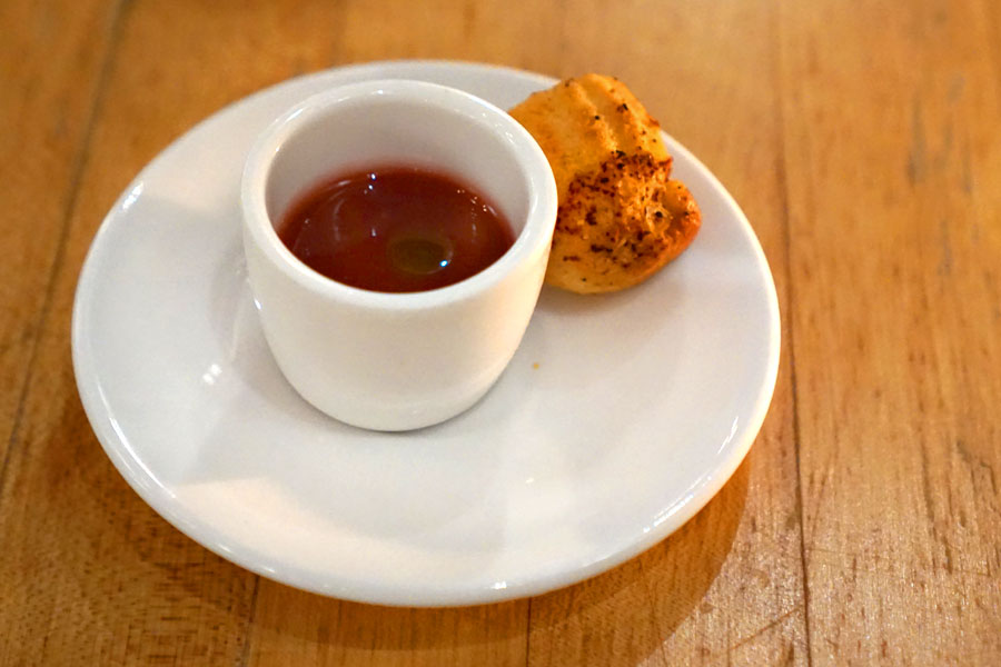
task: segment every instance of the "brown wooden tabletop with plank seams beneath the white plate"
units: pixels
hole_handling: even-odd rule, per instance
[[[998,44],[988,0],[0,1],[0,664],[1001,664]],[[533,599],[258,578],[139,499],[73,382],[85,252],[147,161],[268,84],[412,57],[616,74],[779,286],[779,385],[733,479]]]

